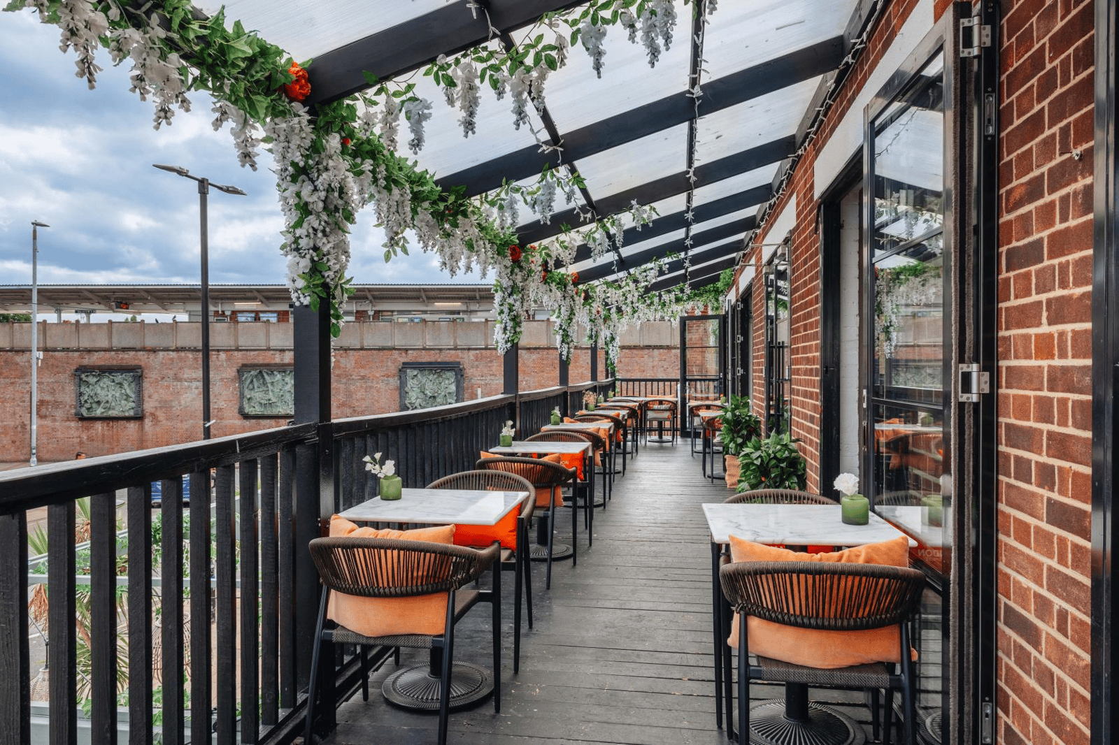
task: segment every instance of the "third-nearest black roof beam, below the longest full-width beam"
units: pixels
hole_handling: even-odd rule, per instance
[[[727,155],[720,160],[714,160],[696,168],[696,188],[709,186],[723,179],[728,179],[732,176],[739,176],[755,168],[784,160],[792,155],[793,151],[792,138],[788,136],[774,140],[773,142],[767,142],[750,150],[743,150],[740,153]],[[613,215],[626,209],[633,201],[637,201],[639,205],[652,204],[660,199],[685,194],[689,187],[687,171],[680,171],[679,173],[666,176],[655,181],[648,181],[626,191],[619,191],[609,197],[600,197],[598,200],[599,214]],[[756,200],[754,204],[764,204],[772,196],[772,187],[765,183],[753,189],[747,189],[742,194],[749,195],[745,197],[747,199]],[[552,216],[552,221],[547,225],[542,225],[538,221],[527,223],[524,227],[518,228],[517,235],[521,244],[538,243],[554,235],[560,235],[563,232],[561,228],[563,225],[572,227],[581,225],[579,215],[575,214],[574,209],[556,213]],[[653,225],[656,225],[656,221]]]

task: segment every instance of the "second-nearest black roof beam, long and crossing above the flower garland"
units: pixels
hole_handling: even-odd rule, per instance
[[[700,114],[722,111],[824,75],[835,68],[841,59],[843,38],[835,37],[732,73],[704,86]],[[544,163],[556,166],[561,157],[565,162],[587,158],[684,124],[694,115],[695,106],[692,98],[686,93],[677,93],[568,132],[564,136],[562,153],[542,154],[539,148],[534,144],[450,173],[436,182],[444,189],[466,186],[467,195],[474,196],[500,187],[505,180],[516,181],[539,173]]]

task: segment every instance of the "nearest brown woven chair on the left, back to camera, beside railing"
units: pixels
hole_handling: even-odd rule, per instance
[[[439,745],[446,743],[446,719],[451,700],[451,662],[454,654],[454,624],[479,602],[489,602],[493,632],[493,711],[501,710],[501,578],[498,575],[500,546],[478,550],[422,540],[394,538],[316,538],[309,544],[311,558],[322,579],[319,620],[311,652],[311,682],[307,697],[304,743],[313,743],[314,697],[322,642],[373,647],[407,647],[442,651],[439,695]],[[459,590],[492,567],[491,590]],[[422,578],[417,582],[416,578]],[[345,626],[326,628],[330,593],[359,597],[415,597],[446,593],[446,620],[442,634],[394,634],[366,636]],[[364,666],[363,666],[364,667]],[[368,677],[368,671],[363,670]],[[434,672],[434,671],[432,671]],[[327,685],[333,685],[328,681]]]

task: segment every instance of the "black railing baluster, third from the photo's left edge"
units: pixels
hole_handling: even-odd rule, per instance
[[[90,688],[93,698],[90,736],[92,742],[116,745],[115,494],[109,492],[90,498]],[[27,537],[22,540],[26,546]],[[23,566],[26,572],[26,560]],[[26,603],[26,600],[20,603],[21,610]]]

